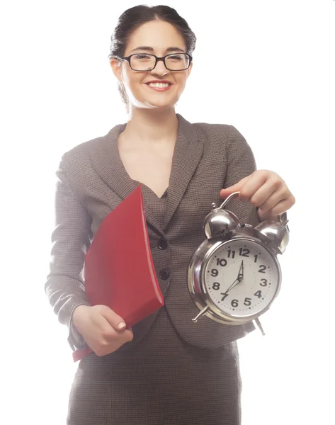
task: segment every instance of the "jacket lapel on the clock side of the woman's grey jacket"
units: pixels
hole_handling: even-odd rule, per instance
[[[193,125],[181,115],[178,117],[178,137],[174,148],[168,188],[164,229],[169,225],[183,194],[191,181],[203,154],[203,142],[199,140]]]

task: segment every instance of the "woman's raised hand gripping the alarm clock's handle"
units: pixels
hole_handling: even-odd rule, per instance
[[[258,215],[261,221],[277,220],[278,215],[283,214],[295,204],[295,197],[285,181],[274,171],[256,170],[234,186],[222,189],[220,196],[226,199],[237,191],[241,200],[249,201],[255,207],[259,207]]]

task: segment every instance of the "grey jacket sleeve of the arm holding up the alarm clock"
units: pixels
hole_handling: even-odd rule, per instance
[[[227,174],[223,188],[228,188],[238,183],[244,177],[256,171],[256,162],[251,147],[242,134],[229,125],[229,137],[227,143]],[[227,209],[232,210],[240,222],[256,226],[259,224],[257,208],[251,203],[244,202],[238,198],[232,199],[227,204]]]

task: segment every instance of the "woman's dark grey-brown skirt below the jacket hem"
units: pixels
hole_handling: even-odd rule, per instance
[[[239,425],[241,391],[236,341],[191,346],[163,307],[131,350],[80,361],[67,425]]]

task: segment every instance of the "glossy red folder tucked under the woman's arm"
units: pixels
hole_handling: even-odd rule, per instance
[[[127,327],[159,310],[164,298],[152,262],[142,185],[98,227],[85,259],[85,293],[91,305],[107,305]],[[74,361],[93,351],[72,353]]]

